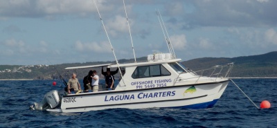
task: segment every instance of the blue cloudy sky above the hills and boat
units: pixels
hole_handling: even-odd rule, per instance
[[[132,59],[123,0],[96,0],[117,59]],[[136,57],[239,57],[277,51],[276,0],[125,0]],[[93,0],[0,0],[0,65],[114,61]]]

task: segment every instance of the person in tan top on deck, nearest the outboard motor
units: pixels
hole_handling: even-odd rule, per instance
[[[80,83],[75,73],[72,73],[72,77],[67,82],[67,93],[71,94],[71,91],[79,91],[81,90]]]

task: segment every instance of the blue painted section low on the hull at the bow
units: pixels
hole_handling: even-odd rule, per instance
[[[211,102],[202,102],[199,104],[191,104],[191,105],[186,105],[182,107],[171,107],[171,108],[181,108],[181,109],[208,109],[211,108],[215,105],[218,99],[215,99]]]

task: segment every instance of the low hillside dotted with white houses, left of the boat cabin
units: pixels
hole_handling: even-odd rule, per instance
[[[136,61],[145,61],[147,57],[137,58]],[[134,59],[131,60],[118,60],[119,63],[134,62]],[[0,80],[6,79],[34,79],[34,80],[56,80],[60,79],[59,74],[64,77],[64,79],[69,79],[71,73],[77,73],[78,79],[82,79],[89,70],[91,69],[78,69],[78,70],[64,70],[66,67],[71,66],[87,66],[87,65],[96,65],[96,64],[110,64],[116,62],[86,62],[86,63],[71,63],[71,64],[55,64],[55,65],[30,65],[30,66],[19,66],[19,65],[0,65]],[[98,74],[101,72],[101,68],[93,68]],[[116,69],[112,69],[116,70]],[[116,75],[116,77],[118,77]]]

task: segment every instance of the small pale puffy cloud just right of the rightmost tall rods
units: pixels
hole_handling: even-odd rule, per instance
[[[170,36],[171,44],[176,50],[184,50],[186,48],[186,35],[172,35]]]

